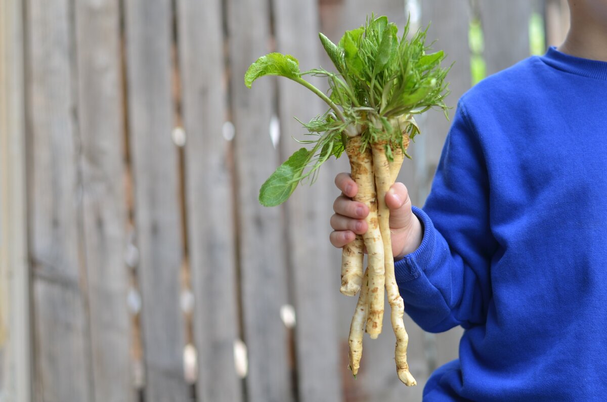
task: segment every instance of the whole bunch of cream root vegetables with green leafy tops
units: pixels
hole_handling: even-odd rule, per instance
[[[358,373],[364,332],[371,339],[381,333],[387,293],[396,336],[396,371],[407,386],[416,383],[407,364],[409,338],[402,321],[404,304],[396,285],[385,194],[408,157],[409,140],[419,134],[415,115],[432,107],[447,110],[444,79],[449,69],[441,67],[442,51],[427,53],[426,33],[427,29],[410,33],[407,24],[399,36],[398,27],[385,16],[371,16],[363,26],[345,32],[338,44],[320,33],[337,72],[320,68],[302,72],[293,56],[270,53],[245,74],[248,87],[264,75],[290,78],[328,104],[325,114],[302,123],[312,139],[300,142],[309,148],[300,148],[274,171],[263,183],[259,201],[265,206],[285,202],[299,182],[313,181],[322,163],[345,151],[358,185],[354,200],[370,211],[367,232],[342,250],[341,293],[359,293],[348,338],[350,370]],[[305,80],[307,76],[326,77],[327,94]],[[363,271],[364,247],[368,267]]]

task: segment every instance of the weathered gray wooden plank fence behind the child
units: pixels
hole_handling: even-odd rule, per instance
[[[393,335],[347,370],[355,298],[328,243],[336,172],[263,208],[257,192],[322,112],[287,80],[246,89],[248,65],[330,61],[367,13],[429,38],[471,85],[469,27],[486,73],[529,55],[529,19],[563,39],[561,0],[0,0],[0,402],[415,401],[456,358],[461,330],[410,319],[404,387]],[[322,85],[322,84],[320,84]],[[399,179],[421,205],[449,123],[419,122]],[[384,327],[390,328],[385,322]],[[368,339],[368,338],[367,338]]]

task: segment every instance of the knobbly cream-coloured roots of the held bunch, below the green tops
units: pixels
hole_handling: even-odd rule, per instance
[[[403,148],[409,145],[409,137],[403,133]],[[368,268],[362,272],[362,244],[360,237],[344,247],[342,251],[342,288],[347,295],[354,295],[360,289],[356,311],[350,324],[348,345],[350,346],[350,370],[356,376],[362,357],[364,330],[371,339],[381,332],[384,313],[384,287],[392,308],[390,321],[396,336],[395,362],[399,380],[407,386],[416,385],[407,364],[409,336],[405,330],[404,302],[396,285],[392,236],[390,233],[390,210],[385,204],[385,196],[396,181],[404,159],[401,148],[392,149],[392,162],[385,154],[387,143],[378,142],[361,153],[361,137],[348,140],[346,152],[350,158],[351,175],[358,185],[354,200],[369,207],[367,233],[362,236],[367,247]],[[362,283],[361,283],[362,278]]]

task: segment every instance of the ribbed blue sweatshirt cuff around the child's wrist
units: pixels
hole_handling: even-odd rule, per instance
[[[411,254],[407,254],[398,261],[394,262],[394,273],[396,283],[402,284],[409,282],[419,277],[419,275],[430,265],[432,254],[436,244],[436,236],[432,220],[427,214],[416,206],[412,206],[413,214],[418,217],[421,222],[422,237],[421,244]]]

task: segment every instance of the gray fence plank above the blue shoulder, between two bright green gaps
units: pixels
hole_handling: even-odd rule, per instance
[[[529,57],[529,0],[479,2],[487,75]]]

